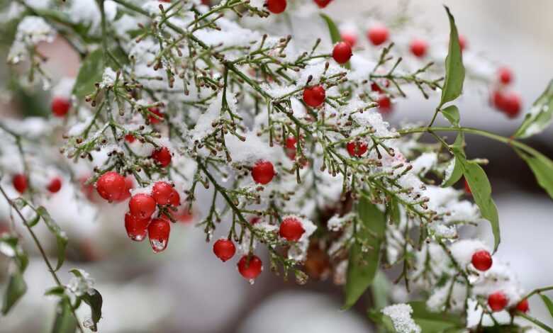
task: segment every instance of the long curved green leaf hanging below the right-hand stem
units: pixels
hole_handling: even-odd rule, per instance
[[[496,252],[501,242],[501,234],[497,207],[491,198],[491,185],[490,181],[488,181],[488,176],[486,176],[486,172],[479,164],[467,161],[464,154],[459,152],[458,149],[454,149],[454,154],[456,161],[461,164],[464,178],[467,179],[472,197],[480,208],[482,218],[490,222],[491,231],[493,232],[493,252]]]

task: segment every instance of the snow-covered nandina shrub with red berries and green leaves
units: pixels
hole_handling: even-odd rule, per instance
[[[525,293],[515,272],[493,257],[500,223],[481,166],[486,160],[467,156],[464,137],[510,145],[553,196],[553,162],[520,141],[551,122],[553,88],[512,137],[462,127],[454,103],[471,49],[449,9],[443,60],[432,50],[445,45],[431,36],[394,45],[408,40],[401,38],[405,26],[374,21],[366,31],[340,33],[329,16],[316,14],[330,10],[330,0],[223,0],[216,6],[96,0],[94,10],[79,16],[72,13],[91,1],[50,2],[14,1],[6,9],[17,26],[8,62],[26,65],[18,67],[26,71],[20,84],[38,82],[50,93],[52,114],[35,123],[2,120],[0,153],[10,159],[1,160],[6,181],[0,191],[52,274],[55,286],[47,294],[59,298],[53,332],[96,331],[102,305],[86,272],[72,270],[67,284],[57,276],[68,239],[42,203],[61,186],[79,190],[71,204],[128,205],[121,225],[129,242],[148,237],[160,256],[171,247],[169,235],[179,227],[172,223],[183,211],[207,206],[199,223],[206,239],[245,279],[253,283],[266,267],[293,274],[298,283],[332,275],[345,284],[345,308],[369,286],[385,290],[381,271],[399,267],[396,283],[424,299],[374,303],[369,318],[391,332],[523,332],[518,320],[496,319],[495,312],[505,310],[510,319],[523,317],[552,332],[527,314],[527,298],[540,293],[551,309],[543,293],[553,287]],[[313,28],[308,45],[292,43],[286,26],[285,16],[301,6],[311,6],[309,19],[328,27],[328,33]],[[359,47],[362,36],[367,40]],[[56,38],[79,55],[76,78],[49,77],[43,68],[40,45]],[[469,82],[491,86],[493,106],[515,118],[521,101],[509,90],[513,73],[506,67],[496,72]],[[392,128],[386,116],[394,101],[408,98],[409,87],[439,102],[428,125]],[[436,126],[437,118],[449,125]],[[449,142],[440,132],[456,138]],[[467,190],[457,190],[463,181]],[[201,191],[213,199],[199,203]],[[492,247],[460,239],[463,225],[482,221],[493,230]],[[39,222],[55,235],[56,264],[33,231]],[[212,239],[216,228],[227,237]],[[0,244],[11,260],[6,314],[26,292],[28,258],[15,230],[3,232]],[[262,252],[270,262],[259,258]],[[91,317],[81,322],[75,310],[83,303]],[[467,327],[471,311],[491,317],[491,324]]]

